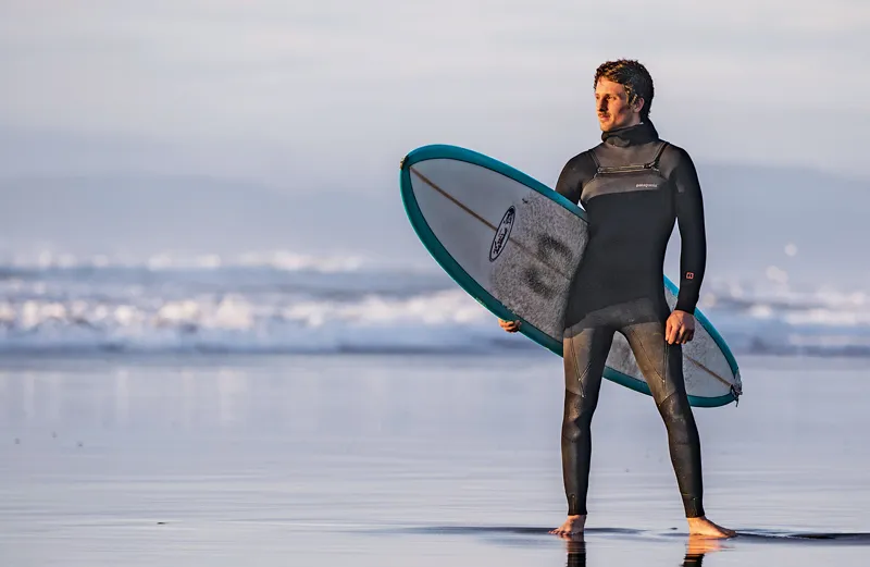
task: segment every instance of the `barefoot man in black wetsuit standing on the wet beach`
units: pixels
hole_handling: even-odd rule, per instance
[[[734,532],[705,516],[700,441],[686,397],[682,346],[695,333],[694,311],[704,278],[704,206],[685,150],[659,138],[649,121],[652,78],[641,63],[608,61],[595,73],[601,144],[568,161],[556,190],[586,210],[589,239],[564,321],[566,400],[562,469],[568,519],[554,533],[583,533],[592,454],[593,412],[613,334],[629,341],[668,430],[689,533]],[[673,312],[664,299],[668,239],[679,223],[680,293]],[[518,321],[499,324],[508,332]]]

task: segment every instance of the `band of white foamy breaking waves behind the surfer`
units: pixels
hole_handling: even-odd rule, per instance
[[[540,348],[438,270],[290,252],[38,260],[0,264],[2,352]],[[737,354],[870,356],[867,289],[710,279],[700,309]]]

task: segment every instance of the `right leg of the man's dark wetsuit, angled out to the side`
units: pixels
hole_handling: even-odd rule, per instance
[[[683,507],[687,518],[695,518],[704,516],[700,439],[683,380],[683,349],[664,340],[666,320],[627,325],[620,332],[629,340],[664,420]]]

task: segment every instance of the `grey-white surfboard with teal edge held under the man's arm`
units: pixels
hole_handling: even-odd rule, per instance
[[[430,145],[408,153],[399,186],[408,219],[435,261],[482,306],[562,356],[562,323],[588,222],[577,205],[523,172],[483,153]],[[662,282],[671,309],[678,286]],[[695,336],[683,345],[688,400],[719,407],[742,394],[739,368],[725,341],[696,309]],[[495,324],[495,322],[494,322]],[[651,395],[620,333],[604,378]]]

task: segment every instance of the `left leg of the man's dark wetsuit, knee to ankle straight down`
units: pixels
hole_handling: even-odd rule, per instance
[[[588,328],[566,336],[563,342],[562,478],[571,516],[586,514],[592,416],[598,405],[601,373],[614,332],[605,326]]]

